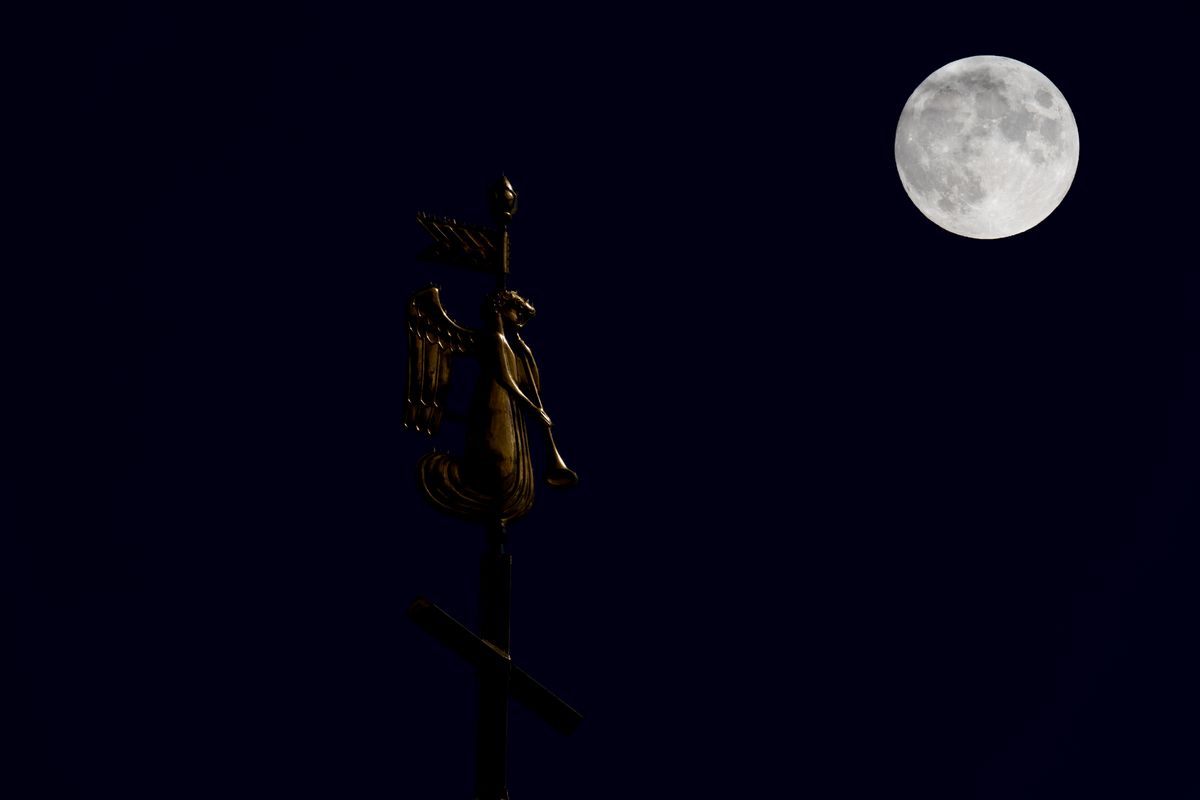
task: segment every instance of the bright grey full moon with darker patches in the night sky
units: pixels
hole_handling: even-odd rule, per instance
[[[910,199],[972,239],[1028,230],[1058,207],[1079,166],[1079,128],[1062,92],[998,55],[947,64],[912,92],[896,125]]]

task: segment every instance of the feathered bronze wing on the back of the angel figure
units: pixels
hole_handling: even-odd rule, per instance
[[[408,391],[404,427],[437,433],[450,395],[456,354],[475,348],[475,331],[450,319],[437,287],[426,287],[408,303]]]

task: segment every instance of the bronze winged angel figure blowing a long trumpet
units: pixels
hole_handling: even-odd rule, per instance
[[[533,351],[521,338],[534,307],[512,290],[484,300],[485,325],[470,330],[454,321],[437,287],[413,295],[408,306],[408,393],[404,427],[433,434],[442,423],[456,355],[479,360],[479,378],[467,415],[461,458],[437,451],[418,463],[425,497],[448,513],[476,522],[511,522],[533,507],[533,463],[524,414],[545,431],[550,486],[568,487],[578,476],[563,463],[541,402]]]

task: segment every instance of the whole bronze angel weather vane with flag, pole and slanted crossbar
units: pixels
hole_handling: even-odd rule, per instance
[[[455,360],[472,356],[479,375],[467,413],[462,455],[438,451],[418,462],[419,486],[436,509],[486,530],[480,569],[480,632],[470,632],[425,597],[408,615],[479,674],[479,720],[475,745],[475,800],[508,800],[509,697],[524,704],[556,730],[570,734],[582,718],[526,672],[509,655],[509,608],[512,557],[508,524],[533,507],[534,468],[526,419],[545,434],[548,464],[545,481],[552,487],[575,486],[578,476],[566,467],[553,422],[541,401],[541,378],[533,350],[521,330],[533,319],[533,305],[508,288],[509,223],[517,210],[517,193],[508,178],[488,192],[488,207],[498,228],[466,224],[418,212],[416,222],[433,239],[421,252],[425,260],[496,276],[496,288],[480,309],[482,326],[468,329],[446,313],[437,287],[416,291],[408,303],[408,391],[404,427],[433,435],[450,396]]]

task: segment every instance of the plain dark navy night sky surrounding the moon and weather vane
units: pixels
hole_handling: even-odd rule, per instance
[[[1200,793],[1182,20],[470,13],[148,4],[18,58],[11,796],[470,796],[474,675],[403,610],[474,625],[482,536],[416,493],[403,309],[474,321],[413,216],[502,170],[582,477],[511,531],[514,657],[586,717],[514,709],[517,800]],[[976,54],[1081,139],[996,241],[892,155]]]

